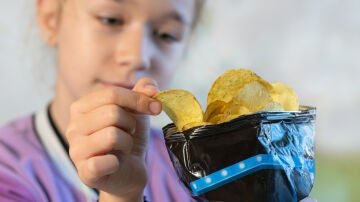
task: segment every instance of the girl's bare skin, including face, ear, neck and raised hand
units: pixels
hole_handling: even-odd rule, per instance
[[[58,51],[50,112],[81,180],[100,201],[141,201],[151,97],[188,42],[193,0],[37,0],[41,35]]]

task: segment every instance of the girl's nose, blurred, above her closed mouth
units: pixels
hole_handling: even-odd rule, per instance
[[[116,61],[134,70],[150,68],[152,43],[146,27],[136,24],[124,30],[117,44]]]

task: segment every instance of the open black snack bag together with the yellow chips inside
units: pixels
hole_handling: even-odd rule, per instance
[[[163,128],[179,176],[209,201],[299,201],[314,184],[316,109],[286,84],[247,69],[225,72],[203,112],[185,90],[155,96],[173,123]]]

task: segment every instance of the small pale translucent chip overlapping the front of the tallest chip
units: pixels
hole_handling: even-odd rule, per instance
[[[234,98],[235,103],[242,103],[251,112],[260,111],[265,105],[273,102],[270,92],[258,82],[246,84]]]

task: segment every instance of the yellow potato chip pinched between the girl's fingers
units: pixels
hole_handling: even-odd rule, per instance
[[[202,123],[203,111],[194,95],[186,90],[166,90],[154,96],[163,110],[181,131],[190,123]]]

